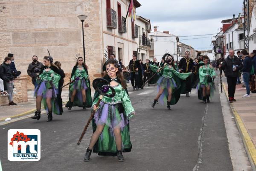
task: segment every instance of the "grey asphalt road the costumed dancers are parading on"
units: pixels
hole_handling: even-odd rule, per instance
[[[130,120],[133,144],[130,153],[123,153],[125,162],[116,157],[92,154],[84,162],[91,126],[80,145],[79,136],[90,110],[67,108],[62,116],[46,122],[30,118],[0,126],[0,156],[3,171],[233,171],[227,134],[216,84],[210,104],[203,104],[197,95],[182,96],[178,104],[167,110],[157,104],[151,107],[156,87],[130,92],[137,115]],[[41,130],[41,160],[11,162],[7,159],[7,130]]]

